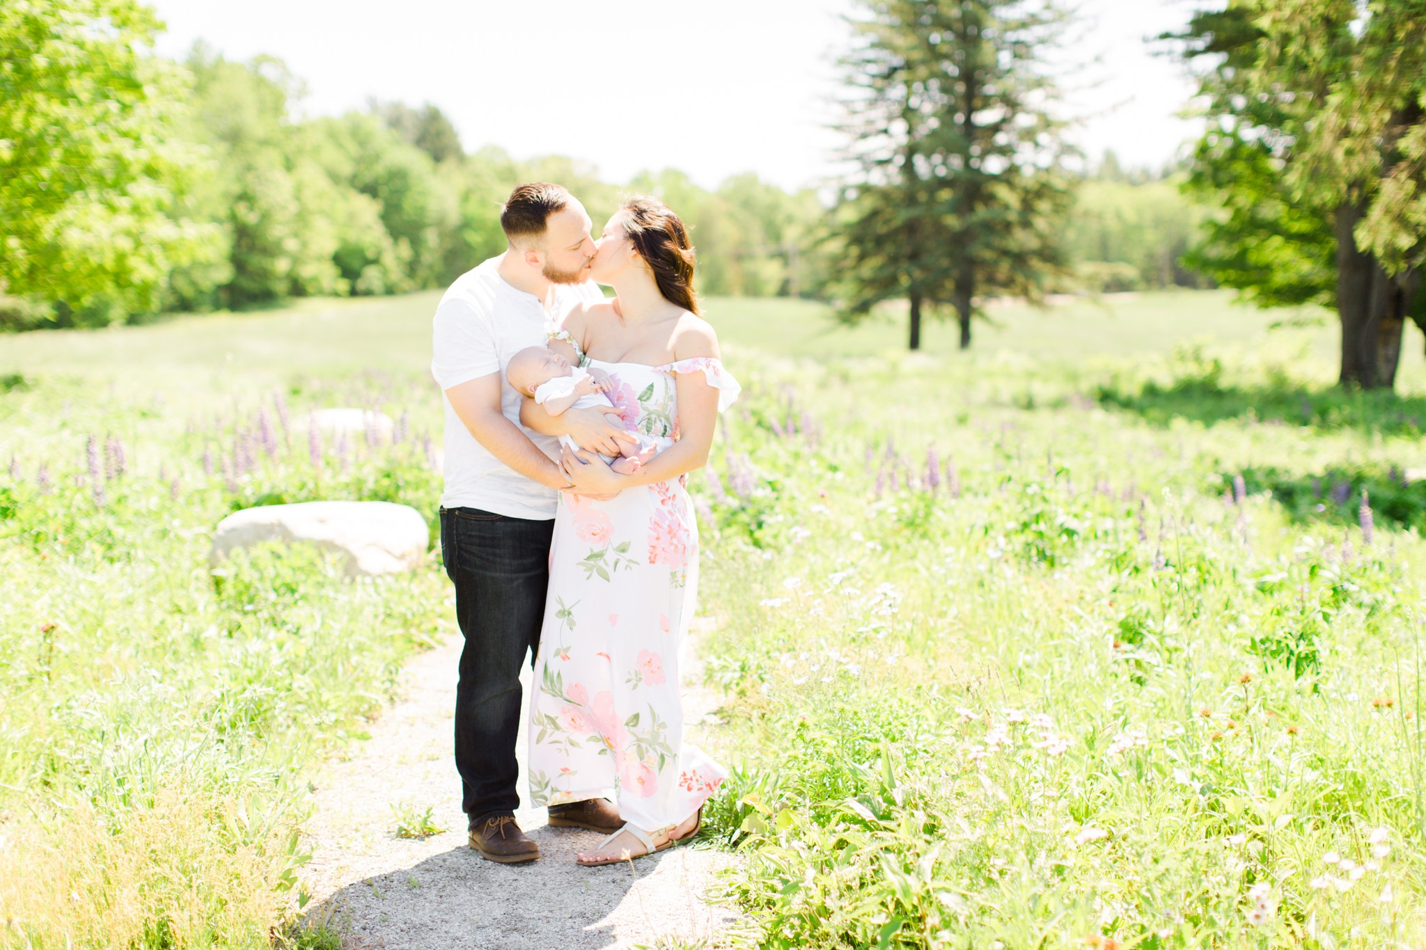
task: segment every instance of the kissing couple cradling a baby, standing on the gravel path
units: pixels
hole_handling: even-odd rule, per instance
[[[739,385],[699,316],[687,228],[657,199],[626,201],[596,239],[569,191],[525,184],[501,226],[506,251],[441,299],[431,363],[462,808],[483,857],[539,857],[515,820],[529,654],[532,803],[606,832],[579,855],[606,865],[692,839],[726,775],[683,741],[677,659],[697,600],[687,476]]]

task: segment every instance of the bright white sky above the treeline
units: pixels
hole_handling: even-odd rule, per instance
[[[834,57],[851,0],[150,0],[160,51],[202,38],[230,58],[277,56],[307,83],[308,114],[368,97],[431,101],[466,150],[565,154],[622,182],[680,168],[704,187],[756,171],[793,188],[833,174]],[[1081,0],[1075,56],[1092,155],[1159,165],[1195,137],[1192,93],[1145,37],[1182,26],[1188,0]]]

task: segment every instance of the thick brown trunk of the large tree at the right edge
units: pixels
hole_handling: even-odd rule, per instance
[[[1353,229],[1362,219],[1360,202],[1338,208],[1338,318],[1342,322],[1342,365],[1338,383],[1362,389],[1390,389],[1402,356],[1402,330],[1416,289],[1415,275],[1393,279],[1368,252],[1356,246]]]

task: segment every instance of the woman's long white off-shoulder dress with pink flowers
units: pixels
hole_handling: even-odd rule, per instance
[[[716,359],[606,363],[630,432],[677,439],[676,373],[702,373],[719,412],[737,382]],[[697,600],[697,521],[686,477],[607,501],[560,493],[535,658],[529,779],[536,806],[613,793],[626,822],[677,825],[726,772],[683,742],[679,641]]]

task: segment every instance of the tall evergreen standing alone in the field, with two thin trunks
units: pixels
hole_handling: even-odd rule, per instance
[[[950,306],[961,349],[977,301],[1040,301],[1064,273],[1064,121],[1045,51],[1067,24],[1052,0],[864,0],[843,58],[841,319],[910,303],[910,348]]]

